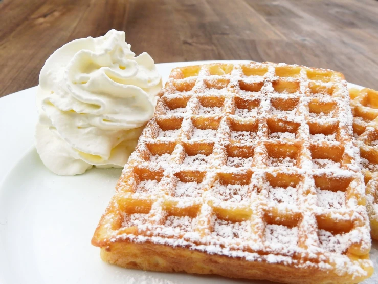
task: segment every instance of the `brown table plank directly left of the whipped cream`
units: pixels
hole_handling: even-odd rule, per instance
[[[18,0],[15,0],[18,1]],[[22,2],[22,1],[19,1]],[[39,71],[46,59],[67,42],[80,19],[77,4],[47,2],[0,42],[0,95],[38,84]],[[0,7],[1,10],[1,7]],[[1,15],[0,15],[1,17]]]

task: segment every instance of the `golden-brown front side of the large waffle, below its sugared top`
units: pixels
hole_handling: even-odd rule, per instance
[[[298,269],[263,262],[248,262],[239,258],[209,255],[195,250],[155,244],[123,243],[111,246],[110,252],[101,249],[101,258],[109,263],[130,269],[160,272],[217,274],[229,278],[270,279],[285,283],[354,283],[345,281],[336,273],[325,274],[318,269]],[[138,259],[138,261],[135,261]],[[189,259],[189,260],[188,260]],[[274,273],[272,273],[274,271]],[[283,280],[284,279],[284,280]],[[300,280],[299,280],[300,279]],[[315,280],[316,279],[316,280]]]

